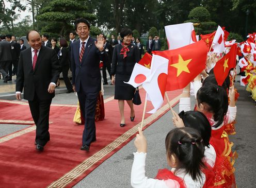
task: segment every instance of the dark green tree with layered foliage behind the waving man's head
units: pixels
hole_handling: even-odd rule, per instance
[[[86,12],[87,8],[82,0],[54,0],[40,10],[36,18],[47,23],[42,28],[42,32],[48,32],[52,36],[55,34],[67,37],[70,30],[73,30],[71,23],[76,18],[85,18],[94,22],[96,16]]]

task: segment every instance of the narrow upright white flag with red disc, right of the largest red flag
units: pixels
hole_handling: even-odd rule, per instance
[[[225,51],[225,43],[224,43],[224,31],[218,26],[218,29],[215,33],[213,39],[213,52],[221,53]]]

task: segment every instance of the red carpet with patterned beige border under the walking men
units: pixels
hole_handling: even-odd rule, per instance
[[[169,92],[173,105],[181,91]],[[135,106],[135,121],[130,121],[129,107],[125,104],[125,123],[121,128],[117,100],[105,100],[105,119],[97,122],[97,142],[90,152],[82,145],[84,126],[73,123],[76,105],[52,105],[50,112],[51,141],[42,153],[35,150],[35,126],[25,102],[0,102],[0,124],[26,124],[30,127],[0,138],[0,187],[72,187],[93,169],[131,141],[141,122],[145,91],[140,90],[142,104]],[[174,99],[174,97],[176,97]],[[166,102],[165,102],[166,104]],[[153,107],[148,102],[147,111]],[[164,105],[155,114],[146,114],[144,128],[169,110]]]

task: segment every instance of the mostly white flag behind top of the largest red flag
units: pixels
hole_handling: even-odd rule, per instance
[[[169,49],[176,49],[197,42],[193,23],[165,26]]]

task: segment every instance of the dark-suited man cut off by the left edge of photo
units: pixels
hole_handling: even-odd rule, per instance
[[[0,73],[4,78],[4,83],[8,81],[8,69],[9,65],[11,64],[11,43],[6,41],[5,36],[0,36]]]

